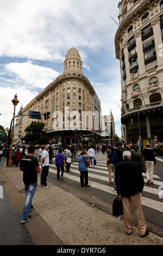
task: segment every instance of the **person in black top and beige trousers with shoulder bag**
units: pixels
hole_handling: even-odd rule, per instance
[[[153,172],[154,167],[156,167],[156,159],[151,143],[146,144],[146,148],[143,149],[141,156],[145,156],[147,184],[149,185],[151,182],[153,185]]]

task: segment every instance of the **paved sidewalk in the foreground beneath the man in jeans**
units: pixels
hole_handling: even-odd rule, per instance
[[[1,161],[0,185],[0,245],[163,245],[163,239],[152,233],[141,238],[137,227],[130,236],[126,235],[122,220],[93,208],[55,184],[46,189],[37,186],[32,218],[22,224],[22,172]]]

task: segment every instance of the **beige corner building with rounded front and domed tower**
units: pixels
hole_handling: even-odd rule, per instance
[[[41,120],[49,143],[80,143],[88,133],[94,141],[101,136],[101,102],[91,83],[82,71],[82,60],[75,48],[68,50],[64,72],[23,108],[23,115],[30,111],[51,112],[51,118]],[[23,117],[24,130],[34,119]],[[91,136],[92,137],[92,136]]]

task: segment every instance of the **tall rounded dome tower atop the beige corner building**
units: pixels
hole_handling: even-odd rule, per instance
[[[80,58],[80,54],[76,48],[72,47],[66,54],[64,61],[64,72],[62,75],[74,73],[82,76],[84,75],[82,71],[82,60]]]

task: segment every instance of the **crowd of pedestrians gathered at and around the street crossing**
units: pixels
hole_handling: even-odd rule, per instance
[[[141,207],[141,193],[143,191],[144,180],[142,172],[146,172],[147,184],[153,185],[153,171],[156,167],[154,151],[151,149],[151,144],[147,143],[146,148],[142,153],[136,152],[135,144],[130,144],[129,147],[122,148],[122,143],[102,145],[102,147],[90,145],[87,152],[83,149],[78,157],[78,170],[80,172],[80,185],[82,187],[90,187],[88,181],[88,167],[94,168],[95,154],[99,151],[105,154],[106,166],[109,173],[109,185],[112,186],[115,193],[122,197],[124,224],[127,235],[132,232],[132,224],[130,220],[130,202],[133,206],[134,215],[139,228],[141,237],[149,234],[146,227],[145,218]],[[64,170],[70,172],[71,161],[73,154],[77,154],[77,149],[72,145],[66,145],[65,149],[59,149],[57,154],[53,154],[53,149],[45,145],[39,149],[39,161],[34,157],[34,146],[28,147],[28,155],[21,157],[19,149],[15,150],[15,162],[20,161],[20,169],[23,171],[23,181],[25,186],[26,204],[23,209],[22,220],[24,223],[30,220],[29,211],[32,209],[32,198],[35,192],[36,175],[40,172],[42,166],[40,186],[48,188],[47,176],[49,164],[52,164],[54,158],[55,166],[57,167],[57,179],[64,179]],[[145,163],[144,163],[144,162]],[[39,163],[40,162],[40,163]],[[28,173],[28,169],[30,172]],[[61,175],[60,175],[61,171]],[[34,174],[32,174],[34,172]],[[112,180],[113,175],[113,180]],[[30,185],[30,186],[29,186]],[[32,187],[32,188],[31,188]],[[28,193],[33,190],[33,194]],[[28,200],[27,200],[28,197]]]

